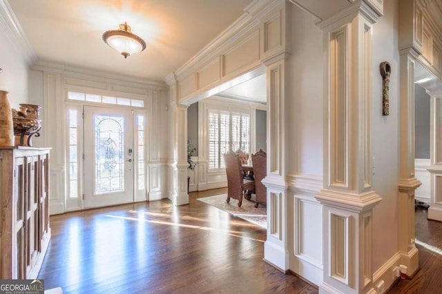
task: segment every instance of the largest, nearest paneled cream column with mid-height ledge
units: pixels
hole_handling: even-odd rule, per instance
[[[356,9],[357,8],[357,9]],[[375,12],[354,6],[321,25],[325,34],[323,284],[320,293],[374,292],[370,131]]]

